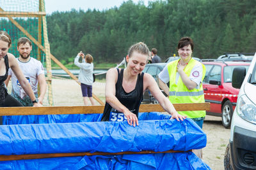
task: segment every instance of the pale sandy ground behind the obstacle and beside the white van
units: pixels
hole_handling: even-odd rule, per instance
[[[93,94],[105,103],[104,90],[104,82],[96,81],[93,83]],[[54,106],[83,106],[80,86],[74,80],[53,79],[52,96]],[[45,96],[44,105],[48,105],[47,95]],[[207,146],[203,149],[204,162],[211,169],[224,169],[223,159],[230,137],[230,129],[223,127],[220,117],[207,116],[203,130],[207,134]]]

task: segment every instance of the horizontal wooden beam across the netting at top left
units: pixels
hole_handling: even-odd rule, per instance
[[[0,11],[0,17],[42,17],[45,16],[45,11],[36,12],[20,12],[20,11]]]

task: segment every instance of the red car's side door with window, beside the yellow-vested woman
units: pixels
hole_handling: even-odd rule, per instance
[[[209,113],[221,113],[221,66],[213,64],[205,65],[205,67],[209,70],[203,81],[205,102],[211,103]],[[211,80],[219,84],[210,84]]]

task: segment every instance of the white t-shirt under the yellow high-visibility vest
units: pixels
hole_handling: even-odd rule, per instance
[[[202,64],[198,63],[196,64],[193,69],[191,70],[191,73],[189,75],[190,80],[195,81],[198,89],[200,87],[200,84],[202,83],[202,73],[203,73],[203,67]],[[168,64],[164,67],[164,69],[159,73],[159,79],[162,80],[164,83],[168,83],[170,80],[170,75],[168,73]],[[180,74],[178,71],[176,72],[176,80],[175,83],[178,83]]]

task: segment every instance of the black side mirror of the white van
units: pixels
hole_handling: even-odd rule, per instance
[[[245,67],[236,67],[232,74],[232,87],[240,89],[246,75]]]

